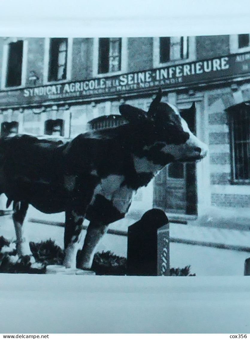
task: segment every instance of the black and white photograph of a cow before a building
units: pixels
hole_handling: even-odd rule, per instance
[[[0,63],[1,273],[250,275],[248,32],[1,37]]]

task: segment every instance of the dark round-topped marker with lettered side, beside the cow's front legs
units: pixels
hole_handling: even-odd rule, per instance
[[[128,227],[127,275],[169,275],[169,221],[157,208]]]

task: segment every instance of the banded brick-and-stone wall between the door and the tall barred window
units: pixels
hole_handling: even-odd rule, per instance
[[[218,207],[250,207],[246,190],[231,183],[229,117],[222,107],[224,100],[228,104],[227,98],[231,98],[229,88],[214,90],[207,98],[211,203]]]

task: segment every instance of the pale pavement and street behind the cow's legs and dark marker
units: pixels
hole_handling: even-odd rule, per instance
[[[29,222],[30,219],[40,219],[44,223]],[[40,242],[52,239],[63,248],[64,228],[46,224],[59,222],[63,224],[64,214],[45,215],[30,208],[25,227],[30,241]],[[114,223],[111,228],[126,230],[137,220],[127,219]],[[88,221],[85,222],[88,225]],[[245,259],[250,257],[250,231],[248,227],[237,229],[213,227],[209,224],[190,220],[188,224],[170,223],[170,266],[185,267],[191,265],[191,273],[198,276],[243,275]],[[232,225],[231,225],[232,226]],[[244,226],[244,225],[243,225]],[[84,231],[86,234],[86,231]],[[0,216],[0,236],[15,240],[15,230],[11,215]],[[98,252],[111,251],[116,255],[126,257],[127,237],[113,234],[104,236]]]

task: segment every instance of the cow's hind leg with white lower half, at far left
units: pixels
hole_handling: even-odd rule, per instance
[[[17,255],[20,257],[29,256],[30,262],[35,263],[35,259],[30,251],[29,241],[25,234],[24,218],[28,210],[28,203],[25,201],[14,201],[13,203],[14,213],[12,215],[15,231],[16,231],[16,248]]]

